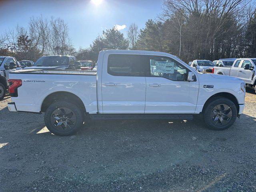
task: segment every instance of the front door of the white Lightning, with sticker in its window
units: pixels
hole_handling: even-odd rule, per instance
[[[190,71],[173,58],[148,56],[145,113],[194,113],[198,81],[188,82]]]

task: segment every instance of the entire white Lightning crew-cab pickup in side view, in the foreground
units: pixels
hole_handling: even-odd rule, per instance
[[[230,127],[244,110],[238,78],[200,74],[163,53],[106,50],[97,71],[20,70],[10,73],[10,111],[45,112],[50,132],[69,135],[90,118],[192,118]],[[225,84],[223,83],[225,82]]]

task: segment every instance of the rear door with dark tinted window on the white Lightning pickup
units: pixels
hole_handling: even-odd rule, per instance
[[[144,113],[146,77],[143,55],[104,54],[102,108],[104,114]]]

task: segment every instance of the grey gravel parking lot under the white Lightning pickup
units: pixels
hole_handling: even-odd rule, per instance
[[[0,101],[0,191],[256,191],[256,94],[228,130],[200,120],[101,120],[50,134]]]

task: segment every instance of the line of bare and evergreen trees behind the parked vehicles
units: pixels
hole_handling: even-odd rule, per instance
[[[135,23],[123,34],[103,30],[89,48],[75,50],[68,25],[60,18],[31,18],[0,36],[0,55],[36,60],[42,55],[74,55],[94,60],[102,49],[168,52],[185,62],[194,59],[256,57],[256,0],[164,0],[157,19],[144,28]]]

